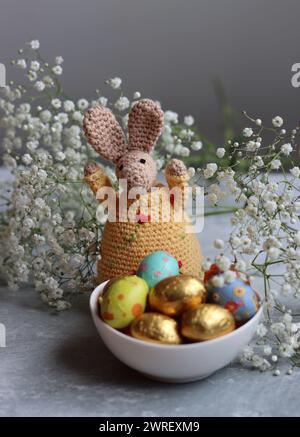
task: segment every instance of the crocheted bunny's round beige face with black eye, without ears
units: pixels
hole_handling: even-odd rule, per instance
[[[127,187],[145,188],[147,191],[153,186],[156,179],[156,164],[146,152],[132,150],[122,156],[116,167],[118,179],[127,179]]]

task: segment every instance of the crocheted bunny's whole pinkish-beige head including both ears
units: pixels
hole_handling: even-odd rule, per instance
[[[88,142],[103,158],[116,165],[118,179],[127,179],[128,189],[147,191],[156,178],[150,153],[161,133],[163,111],[149,99],[140,100],[128,117],[128,144],[123,131],[108,108],[96,106],[84,115],[83,129]]]

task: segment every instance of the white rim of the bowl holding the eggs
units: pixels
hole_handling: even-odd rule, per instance
[[[261,297],[261,294],[255,290],[255,293],[258,295],[260,299],[260,308],[257,311],[257,313],[250,319],[248,322],[244,323],[244,325],[240,326],[239,328],[235,329],[232,332],[229,332],[228,334],[222,335],[221,337],[214,338],[212,340],[205,340],[205,341],[198,341],[194,343],[187,343],[187,344],[159,344],[159,343],[152,343],[147,342],[143,340],[139,340],[137,338],[131,337],[130,335],[126,335],[123,332],[119,331],[118,329],[115,329],[105,323],[98,313],[98,297],[102,294],[105,284],[107,284],[109,280],[102,282],[101,284],[97,285],[97,287],[92,291],[90,295],[90,310],[93,316],[97,317],[97,322],[108,332],[111,332],[113,335],[116,335],[117,337],[120,337],[124,341],[129,341],[130,343],[136,344],[136,345],[143,345],[145,347],[149,348],[157,348],[157,349],[165,349],[165,350],[189,350],[189,349],[195,349],[195,348],[205,348],[208,344],[218,344],[222,343],[228,339],[232,339],[233,337],[236,337],[241,334],[241,332],[245,331],[247,328],[249,328],[249,324],[254,324],[255,321],[260,319],[260,316],[264,309],[264,300]],[[97,296],[96,296],[97,295]]]

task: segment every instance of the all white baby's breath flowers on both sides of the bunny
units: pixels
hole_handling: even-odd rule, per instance
[[[10,83],[0,97],[8,169],[0,187],[1,274],[10,288],[32,282],[43,301],[64,310],[72,294],[94,285],[105,224],[83,181],[85,164],[97,157],[82,133],[83,113],[93,105],[108,106],[126,128],[128,111],[141,94],[124,95],[115,77],[107,81],[112,98],[97,90],[91,101],[74,101],[59,80],[63,58],[46,62],[37,40],[12,64],[26,82]],[[171,156],[181,157],[191,165],[191,183],[204,187],[206,214],[231,214],[231,232],[212,238],[219,252],[203,269],[215,263],[224,272],[216,286],[234,279],[232,264],[253,283],[260,278],[266,316],[257,344],[242,361],[277,375],[281,361],[289,359],[293,367],[300,357],[300,169],[293,161],[299,128],[286,130],[280,116],[269,125],[244,116],[247,127],[217,147],[201,136],[192,116],[180,122],[177,113],[165,111],[155,158],[162,169]]]

